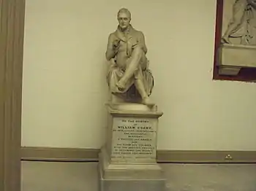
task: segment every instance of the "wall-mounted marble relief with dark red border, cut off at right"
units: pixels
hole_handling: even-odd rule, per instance
[[[256,0],[217,0],[214,79],[256,80]]]

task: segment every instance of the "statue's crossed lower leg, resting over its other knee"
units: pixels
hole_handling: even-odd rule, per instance
[[[143,57],[143,55],[145,55],[143,50],[140,47],[135,47],[135,49],[132,51],[131,58],[129,58],[129,63],[127,63],[127,68],[124,71],[123,77],[121,77],[119,82],[116,84],[118,89],[124,90],[129,78],[131,78],[135,71],[138,70],[140,59]]]

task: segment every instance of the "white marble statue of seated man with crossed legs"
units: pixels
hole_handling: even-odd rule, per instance
[[[149,96],[154,77],[148,69],[145,36],[131,25],[131,12],[122,8],[117,14],[118,27],[108,36],[105,56],[110,61],[107,81],[113,102],[154,105]]]

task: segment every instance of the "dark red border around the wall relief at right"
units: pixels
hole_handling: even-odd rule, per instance
[[[236,76],[219,75],[217,66],[217,50],[222,38],[222,15],[223,0],[217,0],[216,25],[215,25],[215,44],[214,44],[214,74],[213,79],[252,82],[256,80],[256,69],[241,69]]]

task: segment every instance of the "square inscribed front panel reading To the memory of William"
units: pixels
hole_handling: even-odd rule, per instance
[[[116,117],[113,120],[111,160],[155,162],[157,120]]]

